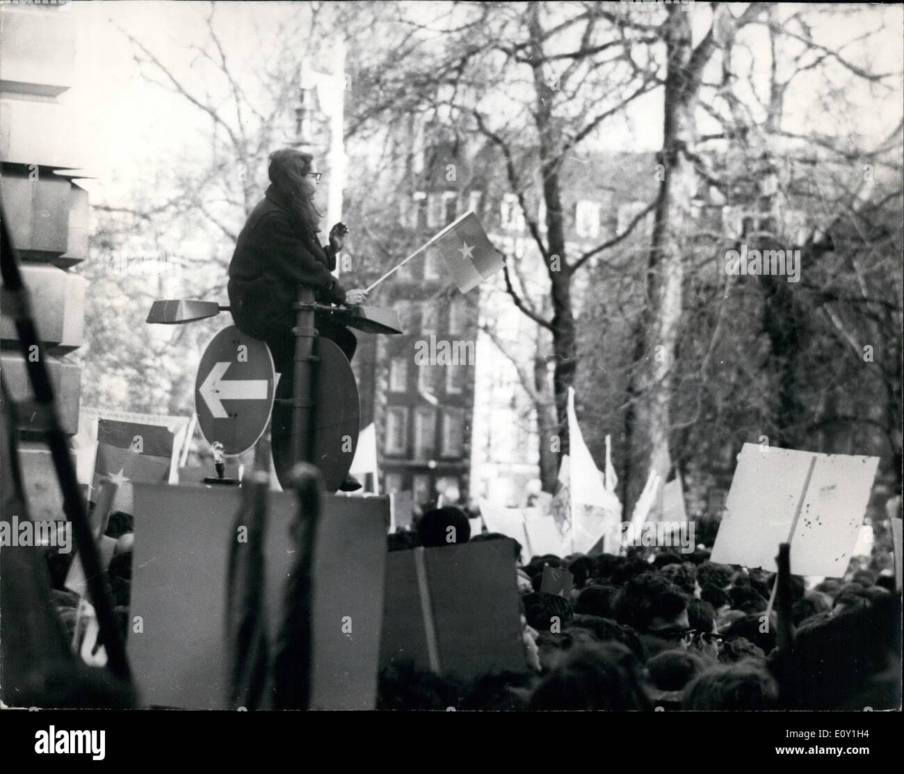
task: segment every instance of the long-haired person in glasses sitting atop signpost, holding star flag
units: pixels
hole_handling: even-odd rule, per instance
[[[268,175],[267,192],[236,242],[227,291],[235,325],[268,345],[281,374],[276,397],[285,399],[292,397],[297,288],[313,288],[318,303],[346,306],[363,304],[367,291],[346,290],[331,273],[348,233],[344,223],[334,224],[327,244],[317,239],[323,215],[316,207],[315,193],[322,173],[314,168],[314,156],[291,148],[275,151],[269,156]],[[352,360],[357,339],[348,328],[334,323],[326,313],[317,313],[315,326],[319,335],[334,341]],[[274,403],[273,463],[284,487],[291,467],[291,427],[291,406]],[[361,484],[348,477],[340,488],[354,491]]]

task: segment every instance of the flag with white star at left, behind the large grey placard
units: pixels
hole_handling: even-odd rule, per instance
[[[91,499],[104,480],[118,484],[114,511],[134,513],[132,482],[167,481],[179,444],[176,434],[163,425],[121,420],[98,420],[98,451],[91,480]]]

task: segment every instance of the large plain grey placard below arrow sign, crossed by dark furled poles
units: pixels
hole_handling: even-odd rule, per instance
[[[240,494],[231,486],[135,487],[127,648],[146,704],[236,709],[225,706],[224,612]],[[288,528],[296,509],[293,494],[269,493],[264,557],[271,656],[293,562]],[[315,559],[312,709],[365,710],[376,702],[388,523],[388,497],[325,496]]]

